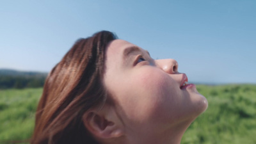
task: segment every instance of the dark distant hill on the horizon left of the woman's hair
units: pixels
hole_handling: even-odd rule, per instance
[[[24,72],[0,68],[0,89],[42,87],[46,77],[46,72]]]

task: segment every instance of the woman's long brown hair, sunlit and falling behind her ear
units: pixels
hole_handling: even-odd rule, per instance
[[[102,84],[106,46],[116,36],[100,31],[77,40],[45,81],[31,143],[97,143],[83,114],[106,100]]]

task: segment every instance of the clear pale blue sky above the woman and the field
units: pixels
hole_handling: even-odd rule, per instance
[[[77,38],[113,31],[197,83],[256,83],[256,1],[0,3],[0,68],[49,72]]]

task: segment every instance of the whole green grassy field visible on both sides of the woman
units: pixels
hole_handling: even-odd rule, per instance
[[[256,143],[256,85],[198,85],[209,107],[181,143]],[[28,140],[33,132],[36,104],[42,88],[0,90],[0,143]]]

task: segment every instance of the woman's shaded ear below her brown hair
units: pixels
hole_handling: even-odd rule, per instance
[[[111,106],[86,111],[83,115],[83,123],[97,138],[118,138],[124,135],[124,125]]]

